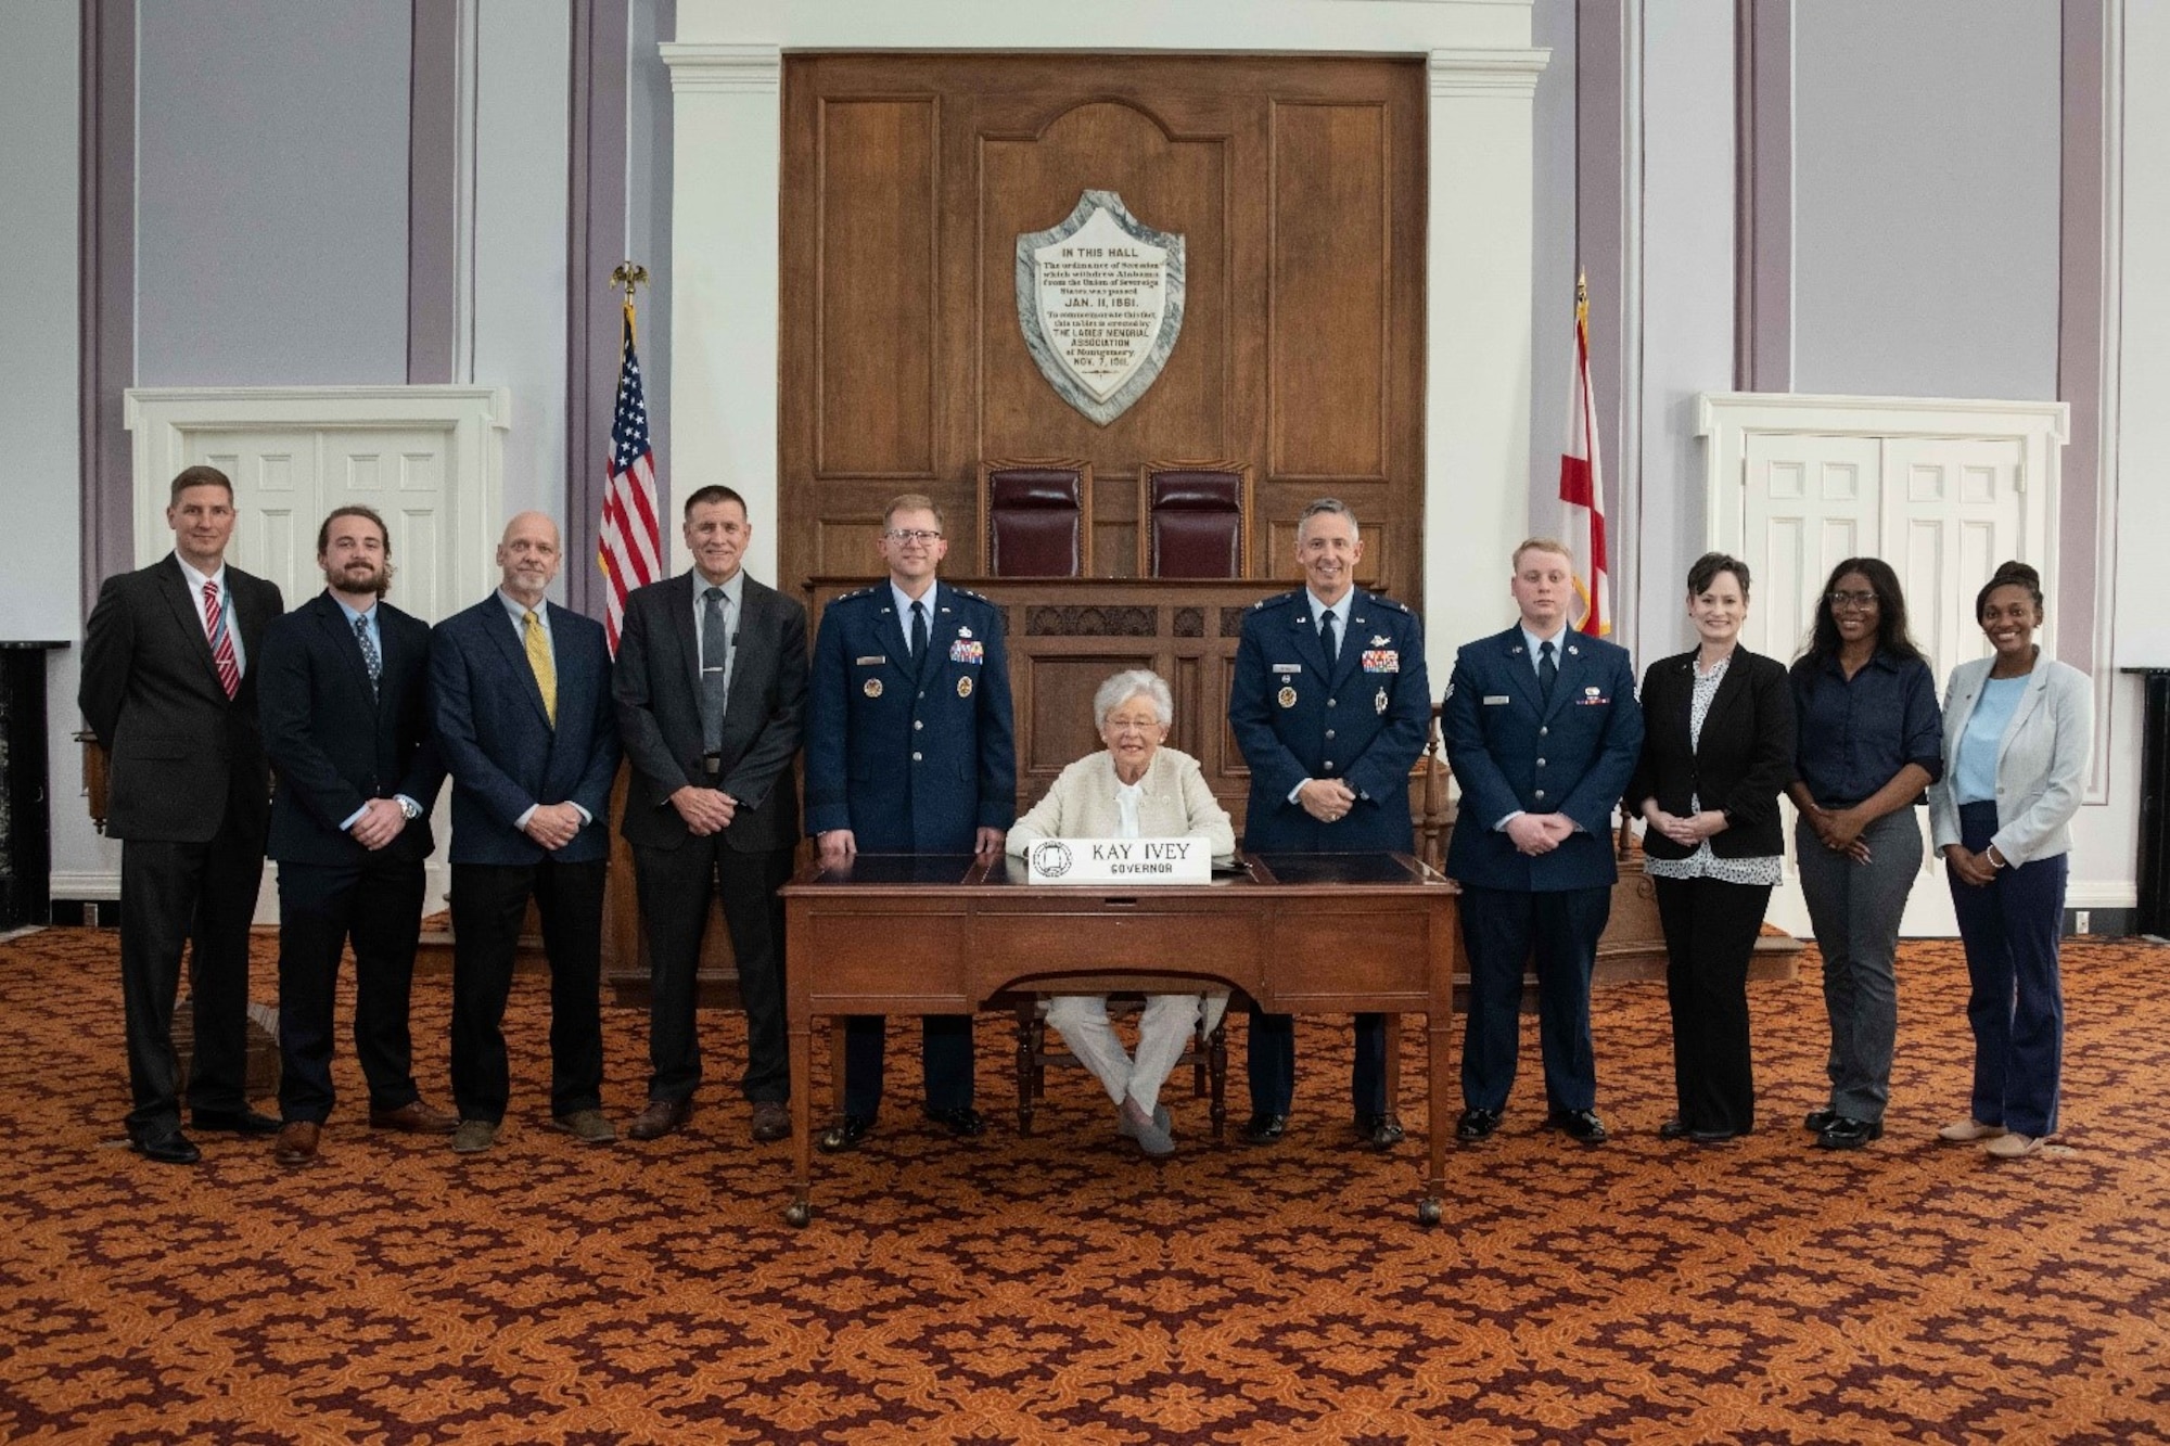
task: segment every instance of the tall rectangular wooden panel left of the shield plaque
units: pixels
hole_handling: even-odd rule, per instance
[[[935,471],[933,96],[820,106],[820,475]]]

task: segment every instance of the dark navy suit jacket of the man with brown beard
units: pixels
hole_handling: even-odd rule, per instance
[[[445,782],[430,738],[430,625],[378,601],[378,686],[345,608],[319,593],[265,630],[256,706],[278,773],[267,851],[293,864],[360,864],[369,849],[341,829],[369,799],[406,795],[421,806],[391,858],[436,849],[430,810]]]

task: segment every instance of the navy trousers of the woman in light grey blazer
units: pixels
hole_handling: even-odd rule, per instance
[[[1996,834],[1996,803],[1960,806],[1960,842],[1975,853]],[[2022,1136],[2057,1133],[2064,1070],[2064,986],[2057,947],[2070,855],[2001,868],[1983,886],[1951,875],[1951,910],[1966,944],[1966,1023],[1975,1027],[1975,1118]]]

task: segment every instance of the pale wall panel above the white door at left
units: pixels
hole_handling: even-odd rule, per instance
[[[406,0],[139,9],[137,384],[404,382]]]

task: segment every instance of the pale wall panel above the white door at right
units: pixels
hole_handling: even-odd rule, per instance
[[[1795,7],[1795,391],[2057,395],[2059,7]]]

